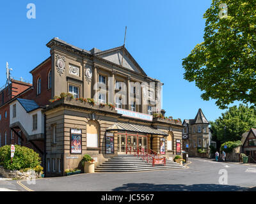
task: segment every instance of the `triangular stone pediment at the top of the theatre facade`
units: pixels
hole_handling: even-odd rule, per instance
[[[140,65],[134,60],[132,55],[129,54],[129,52],[123,46],[113,48],[110,50],[105,50],[102,52],[97,52],[95,55],[107,61],[113,62],[119,66],[123,66],[124,68],[130,69],[131,71],[135,71],[142,75],[146,75],[146,73],[143,71]]]

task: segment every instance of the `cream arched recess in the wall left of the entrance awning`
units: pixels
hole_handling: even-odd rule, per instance
[[[86,126],[87,147],[99,147],[99,125],[89,120]]]

